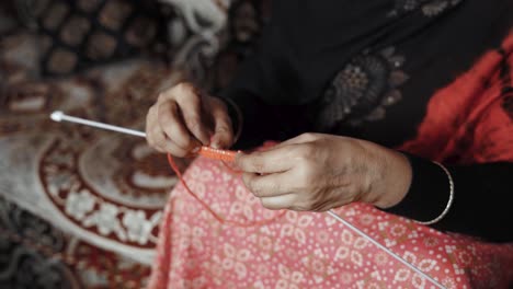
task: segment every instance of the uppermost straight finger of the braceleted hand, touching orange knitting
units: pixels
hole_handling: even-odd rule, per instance
[[[250,154],[238,153],[236,166],[247,173],[280,173],[294,166],[293,150],[284,147],[270,151],[256,151]]]

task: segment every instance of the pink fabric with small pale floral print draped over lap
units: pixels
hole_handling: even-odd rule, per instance
[[[197,159],[184,178],[244,227],[223,224],[176,186],[149,288],[434,288],[326,213],[264,209],[223,163]],[[447,288],[508,288],[513,280],[513,245],[443,234],[362,204],[337,212]]]

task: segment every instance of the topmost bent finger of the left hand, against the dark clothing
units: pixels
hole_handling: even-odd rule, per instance
[[[210,142],[210,134],[203,119],[201,92],[190,83],[180,83],[171,93],[176,94],[182,117],[192,135],[204,146]]]

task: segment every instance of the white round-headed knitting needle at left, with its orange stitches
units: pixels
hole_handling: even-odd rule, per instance
[[[89,120],[76,116],[70,116],[66,115],[65,113],[60,111],[53,112],[50,114],[50,118],[55,122],[69,122],[69,123],[75,123],[75,124],[80,124],[84,126],[90,126],[90,127],[95,127],[100,129],[105,129],[105,130],[111,130],[111,131],[116,131],[125,135],[130,135],[130,136],[136,136],[136,137],[141,137],[146,138],[146,134],[139,130],[135,129],[129,129],[129,128],[124,128],[124,127],[118,127],[118,126],[113,126],[109,124],[103,124],[100,122],[94,122],[94,120]],[[219,161],[225,161],[225,162],[233,162],[237,151],[229,151],[229,150],[217,150],[213,149],[209,147],[201,147],[200,151],[197,154],[201,154],[205,158],[213,159],[213,160],[219,160]]]

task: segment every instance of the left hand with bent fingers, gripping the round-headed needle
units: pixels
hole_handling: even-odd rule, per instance
[[[226,104],[190,83],[179,83],[159,94],[146,117],[148,143],[160,152],[187,157],[201,146],[227,149],[233,129]]]

